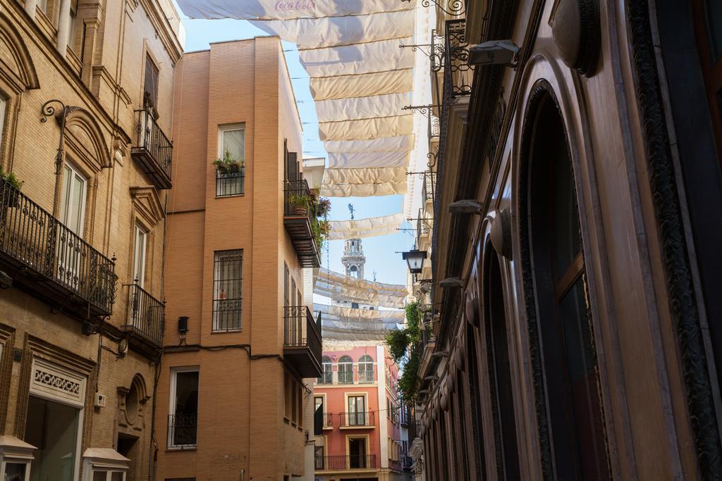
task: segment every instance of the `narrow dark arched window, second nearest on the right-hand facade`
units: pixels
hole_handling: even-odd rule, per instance
[[[521,479],[521,474],[516,446],[516,420],[511,389],[504,293],[499,258],[491,247],[486,250],[485,263],[484,332],[487,342],[497,477],[500,480],[518,480]]]

